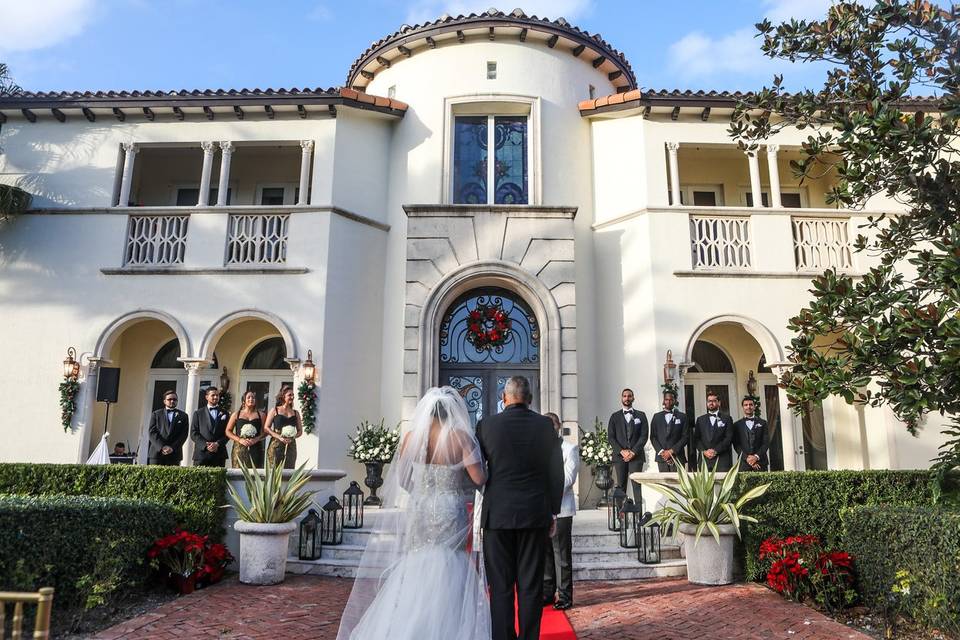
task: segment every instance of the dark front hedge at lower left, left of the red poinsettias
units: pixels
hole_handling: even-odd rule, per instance
[[[173,509],[144,500],[0,495],[0,591],[56,589],[58,606],[112,602],[148,576]]]

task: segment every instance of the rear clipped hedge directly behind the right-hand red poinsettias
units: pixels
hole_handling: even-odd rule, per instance
[[[933,502],[929,471],[776,471],[742,473],[743,493],[770,482],[763,497],[752,502],[747,515],[756,524],[743,528],[746,576],[760,576],[757,554],[770,536],[813,534],[828,547],[841,547],[840,513],[854,505],[921,506]]]

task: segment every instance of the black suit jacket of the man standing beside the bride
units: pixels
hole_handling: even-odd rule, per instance
[[[488,474],[481,526],[549,527],[563,500],[563,453],[550,418],[512,404],[477,423],[477,439]]]

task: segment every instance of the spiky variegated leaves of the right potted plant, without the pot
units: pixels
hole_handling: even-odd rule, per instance
[[[709,530],[717,544],[720,544],[719,526],[726,524],[732,525],[737,537],[740,537],[741,522],[757,521],[756,518],[744,515],[743,508],[762,496],[770,483],[753,487],[734,500],[733,490],[740,473],[739,467],[738,457],[734,461],[733,469],[726,472],[719,490],[715,488],[717,472],[709,467],[702,455],[697,471],[687,471],[683,465],[677,466],[677,488],[659,482],[643,482],[643,485],[667,498],[667,504],[653,514],[651,522],[674,531],[678,530],[681,524],[696,526],[694,544],[700,541],[704,530]]]

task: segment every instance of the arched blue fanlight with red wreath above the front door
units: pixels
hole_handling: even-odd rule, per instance
[[[540,328],[527,305],[505,289],[471,291],[440,324],[440,364],[536,364]]]

